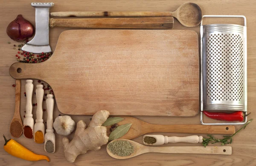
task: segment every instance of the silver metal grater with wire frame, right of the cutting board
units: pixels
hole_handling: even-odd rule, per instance
[[[204,15],[203,17],[242,17],[244,26],[201,22],[201,124],[203,110],[244,111],[247,114],[247,32],[244,16]]]

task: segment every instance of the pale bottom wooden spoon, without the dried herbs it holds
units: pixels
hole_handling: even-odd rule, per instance
[[[212,155],[231,155],[232,147],[231,146],[145,146],[140,143],[126,140],[126,139],[116,139],[129,141],[134,146],[134,152],[129,156],[118,156],[114,155],[107,146],[108,155],[116,159],[127,159],[133,158],[135,156],[141,155],[143,153],[155,152],[155,153],[186,153],[186,154],[212,154]],[[111,141],[111,142],[113,142]],[[110,143],[111,143],[110,142]]]

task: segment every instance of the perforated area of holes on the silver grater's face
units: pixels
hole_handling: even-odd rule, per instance
[[[239,34],[207,38],[207,96],[211,101],[240,101],[243,96],[243,39]]]

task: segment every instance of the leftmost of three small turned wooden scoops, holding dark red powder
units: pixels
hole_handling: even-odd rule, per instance
[[[32,133],[34,133],[34,119],[32,114],[32,94],[33,94],[33,80],[27,79],[25,90],[26,90],[26,114],[23,121],[23,135],[26,137],[26,133],[24,132],[24,127],[28,126],[32,129]],[[28,138],[28,137],[26,137]],[[32,137],[33,138],[33,137]],[[32,139],[31,138],[31,139]]]

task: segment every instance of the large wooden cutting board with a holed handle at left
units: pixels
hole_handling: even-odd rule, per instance
[[[195,31],[70,30],[47,61],[15,63],[9,72],[47,82],[64,114],[194,116],[198,65]]]

